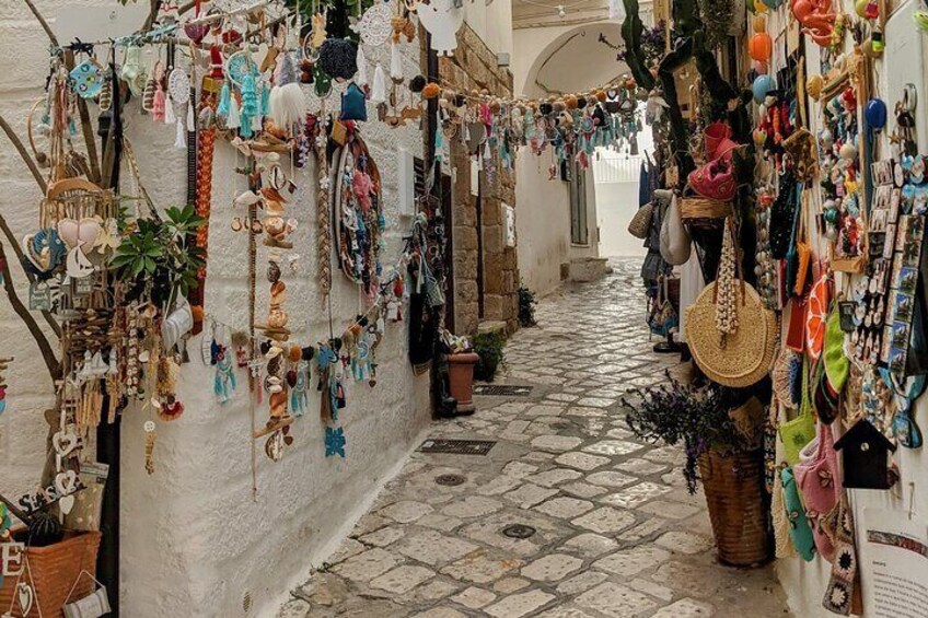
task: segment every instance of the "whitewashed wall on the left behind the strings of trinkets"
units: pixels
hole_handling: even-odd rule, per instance
[[[123,11],[109,0],[69,2],[105,7],[104,13],[86,12],[86,30],[105,23],[111,11]],[[61,2],[38,2],[54,20]],[[0,50],[24,61],[0,75],[0,110],[22,127],[32,101],[42,93],[47,67],[47,42],[18,0],[0,0]],[[138,10],[130,5],[127,11]],[[53,22],[54,23],[54,22]],[[140,20],[134,22],[140,23]],[[70,26],[76,24],[71,23]],[[80,24],[77,24],[80,25]],[[55,24],[63,31],[63,24]],[[137,27],[134,26],[134,27]],[[79,31],[82,32],[82,31]],[[120,33],[121,34],[121,33]],[[73,34],[62,36],[69,40]],[[82,38],[90,38],[82,36]],[[405,46],[406,72],[419,72],[418,47]],[[372,61],[388,63],[388,50],[369,51]],[[339,89],[328,100],[337,107]],[[313,108],[317,108],[316,105]],[[375,115],[373,108],[369,114]],[[143,180],[155,203],[182,203],[185,196],[186,152],[173,149],[174,131],[138,115],[130,104],[128,137],[132,140]],[[399,225],[396,205],[397,161],[403,145],[421,154],[418,129],[388,129],[370,123],[362,128],[380,166],[387,205],[385,265],[395,263],[406,231]],[[5,144],[0,149],[4,172],[0,191],[2,211],[18,235],[35,225],[39,196],[24,166]],[[244,329],[247,324],[247,237],[229,228],[231,200],[245,188],[232,168],[233,150],[218,143],[213,172],[210,225],[209,278],[206,310],[217,319]],[[128,176],[126,176],[128,177]],[[297,218],[293,234],[299,271],[285,268],[288,285],[286,308],[292,340],[314,343],[328,334],[328,322],[315,284],[315,167],[295,173],[301,189],[288,207]],[[11,196],[15,196],[11,199]],[[267,312],[264,247],[258,249],[258,308]],[[15,267],[14,267],[15,268]],[[15,268],[20,289],[24,278]],[[25,298],[25,296],[24,296]],[[350,324],[360,308],[357,288],[335,269],[333,316],[336,334]],[[237,373],[239,389],[232,401],[220,406],[212,396],[212,371],[198,360],[200,338],[189,346],[193,361],[183,368],[178,396],[184,416],[159,423],[156,471],[143,469],[142,422],[148,415],[126,411],[123,421],[121,483],[121,600],[126,616],[240,616],[245,593],[253,600],[252,616],[272,615],[288,591],[305,580],[312,564],[320,564],[350,529],[380,486],[417,444],[429,422],[428,376],[414,377],[406,358],[406,325],[387,325],[378,350],[378,385],[346,383],[348,407],[341,424],[348,441],[347,459],[326,459],[323,424],[318,420],[318,395],[310,393],[310,411],[293,425],[295,444],[279,463],[257,448],[257,494],[252,493],[251,409],[247,380]],[[39,411],[48,405],[50,386],[35,360],[35,346],[22,335],[9,304],[0,302],[0,354],[16,355],[8,376],[8,411],[0,417],[0,479],[2,491],[15,494],[36,482],[44,459],[45,423]],[[256,406],[256,423],[267,418],[267,404]]]

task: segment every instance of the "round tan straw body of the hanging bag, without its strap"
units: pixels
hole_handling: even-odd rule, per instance
[[[777,342],[777,319],[747,283],[734,285],[738,330],[721,336],[716,328],[716,283],[703,290],[686,310],[686,341],[706,376],[723,386],[751,386],[770,372]],[[742,291],[743,290],[743,291]]]

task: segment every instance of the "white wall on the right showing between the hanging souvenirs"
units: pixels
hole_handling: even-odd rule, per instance
[[[907,82],[915,83],[919,95],[928,93],[928,83],[926,82],[926,73],[924,70],[928,62],[928,46],[924,45],[924,37],[914,31],[910,21],[910,11],[916,3],[913,0],[907,0],[902,3],[896,13],[892,16],[890,25],[885,31],[886,51],[882,59],[877,60],[877,75],[879,83],[877,92],[880,97],[886,103],[886,106],[892,110],[893,105],[902,95],[901,88]],[[843,2],[845,12],[852,12],[852,2],[845,0]],[[782,11],[782,10],[781,10]],[[768,32],[778,32],[776,18],[770,20]],[[908,34],[906,34],[908,33]],[[850,37],[845,39],[846,48],[850,48]],[[914,48],[916,45],[921,45],[921,50]],[[807,74],[819,73],[819,48],[807,40],[805,50]],[[920,62],[918,59],[920,58]],[[774,67],[774,70],[778,67]],[[892,71],[890,70],[892,69]],[[919,103],[921,109],[921,103]],[[810,107],[810,130],[815,132],[817,126],[819,106],[813,104]],[[919,151],[928,151],[928,123],[926,123],[924,109],[917,113],[918,118],[918,144]],[[895,125],[892,114],[890,114],[888,129],[892,129]],[[881,144],[879,152],[880,158],[889,156],[890,150],[886,142],[888,131],[883,131],[880,138]],[[812,212],[819,210],[817,205],[813,205],[810,209]],[[815,230],[814,221],[810,218],[808,223],[809,230]],[[814,247],[816,253],[825,249],[824,243],[816,243]],[[914,416],[918,419],[920,427],[925,428],[926,412],[928,412],[928,398],[923,396],[916,401]],[[914,497],[912,508],[915,516],[923,523],[928,520],[928,453],[925,447],[919,450],[910,450],[900,446],[894,455],[894,459],[898,465],[902,479],[900,481],[901,491],[873,491],[873,490],[849,490],[850,501],[854,509],[854,516],[857,524],[858,551],[862,539],[861,522],[863,520],[865,509],[886,509],[902,513],[908,513],[909,497]],[[913,493],[914,490],[914,493]],[[898,497],[896,497],[898,494]],[[863,558],[858,552],[858,559]],[[803,618],[827,618],[834,616],[822,607],[822,596],[825,586],[828,582],[831,565],[821,557],[816,557],[812,562],[803,562],[799,558],[788,560],[778,560],[776,562],[777,575],[787,593],[790,608],[796,616]],[[869,594],[869,586],[872,582],[866,578],[861,582],[865,595]],[[873,618],[865,614],[865,618]]]

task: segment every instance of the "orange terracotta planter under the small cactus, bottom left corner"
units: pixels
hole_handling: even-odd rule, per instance
[[[15,618],[38,618],[39,607],[42,618],[61,618],[61,607],[71,592],[71,586],[78,580],[81,571],[96,575],[96,551],[100,548],[101,534],[68,533],[65,539],[47,547],[30,547],[23,561],[28,562],[28,570],[23,572],[20,581],[35,584],[35,603],[27,616],[23,616],[20,606],[13,603],[16,579],[3,578],[0,586],[0,613],[7,611],[12,604],[12,616]],[[30,580],[30,574],[32,579]],[[74,602],[91,594],[96,588],[92,578],[83,576],[74,586],[70,600]]]

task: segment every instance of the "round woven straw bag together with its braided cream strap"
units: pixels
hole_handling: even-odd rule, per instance
[[[731,234],[728,228],[726,233]],[[731,243],[731,236],[724,242]],[[778,327],[774,312],[745,283],[741,260],[733,253],[723,247],[720,276],[686,308],[684,328],[693,360],[703,373],[723,386],[743,388],[770,372]],[[735,270],[736,278],[732,275]]]

